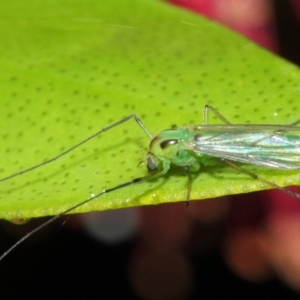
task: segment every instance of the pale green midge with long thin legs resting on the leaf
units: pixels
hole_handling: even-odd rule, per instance
[[[209,111],[219,118],[224,124],[209,125]],[[130,115],[101,129],[59,155],[43,163],[2,178],[0,179],[0,182],[49,164],[80,147],[94,137],[105,131],[113,129],[130,119],[134,119],[139,127],[150,138],[149,149],[145,158],[148,175],[105,189],[99,194],[96,194],[95,196],[86,199],[54,216],[47,222],[26,234],[22,239],[11,246],[0,256],[0,261],[29,236],[47,226],[49,223],[52,223],[60,216],[71,212],[75,208],[90,202],[103,194],[108,194],[130,185],[150,181],[163,176],[169,171],[171,165],[182,167],[188,177],[187,196],[186,199],[182,200],[188,201],[190,199],[190,192],[192,188],[192,177],[190,173],[198,172],[201,165],[205,166],[211,158],[217,158],[256,180],[300,199],[300,194],[294,193],[286,188],[282,188],[276,183],[259,177],[256,174],[243,169],[240,165],[235,164],[235,162],[240,162],[281,170],[300,169],[300,127],[296,126],[300,123],[300,120],[286,126],[231,124],[216,109],[209,105],[204,107],[203,125],[190,125],[178,128],[174,126],[172,129],[164,130],[154,137],[138,116],[135,114]]]

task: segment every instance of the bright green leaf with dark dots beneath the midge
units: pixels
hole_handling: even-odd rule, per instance
[[[154,135],[201,124],[299,119],[298,69],[219,24],[154,0],[0,4],[0,177],[24,170],[136,113]],[[211,118],[210,123],[220,123]],[[55,215],[147,174],[149,139],[132,120],[72,153],[0,183],[0,217]],[[279,185],[297,171],[247,169]],[[192,199],[270,188],[219,162],[195,174]],[[186,199],[184,172],[101,196],[76,212]]]

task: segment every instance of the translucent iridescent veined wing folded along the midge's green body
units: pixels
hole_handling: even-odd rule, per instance
[[[194,132],[185,148],[199,155],[277,169],[300,169],[299,127],[198,126]]]

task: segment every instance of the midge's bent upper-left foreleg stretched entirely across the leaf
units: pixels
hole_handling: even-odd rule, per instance
[[[60,153],[60,154],[58,154],[58,155],[56,155],[56,156],[54,156],[54,157],[52,157],[52,158],[50,158],[50,159],[48,159],[48,160],[42,162],[42,163],[40,163],[40,164],[37,164],[37,165],[32,166],[32,167],[30,167],[30,168],[27,168],[27,169],[25,169],[25,170],[23,170],[23,171],[19,171],[19,172],[17,172],[17,173],[14,173],[14,174],[12,174],[12,175],[7,176],[7,177],[1,178],[1,179],[0,179],[0,182],[1,182],[1,181],[6,181],[6,180],[11,179],[11,178],[13,178],[13,177],[22,175],[22,174],[24,174],[24,173],[27,173],[27,172],[32,171],[32,170],[34,170],[34,169],[37,169],[37,168],[39,168],[39,167],[41,167],[41,166],[44,166],[44,165],[46,165],[46,164],[49,164],[49,163],[51,163],[51,162],[53,162],[53,161],[55,161],[55,160],[61,158],[62,156],[68,154],[69,152],[73,151],[74,149],[76,149],[76,148],[82,146],[83,144],[85,144],[85,143],[87,143],[88,141],[92,140],[93,138],[95,138],[96,136],[100,135],[101,133],[103,133],[103,132],[105,132],[105,131],[108,131],[108,130],[114,128],[114,127],[117,127],[117,126],[119,126],[119,125],[121,125],[121,124],[123,124],[123,123],[125,123],[125,122],[127,122],[127,121],[129,121],[129,120],[131,120],[131,119],[134,119],[134,120],[136,121],[136,123],[140,126],[140,128],[141,128],[141,129],[142,129],[142,130],[143,130],[150,138],[152,138],[152,134],[149,132],[149,130],[148,130],[147,127],[144,125],[144,123],[142,122],[142,120],[141,120],[137,115],[132,114],[132,115],[130,115],[130,116],[127,116],[127,117],[121,119],[121,120],[118,121],[118,122],[115,122],[115,123],[113,123],[113,124],[111,124],[111,125],[109,125],[109,126],[107,126],[107,127],[102,128],[101,130],[97,131],[96,133],[92,134],[91,136],[89,136],[88,138],[82,140],[81,142],[77,143],[76,145],[70,147],[69,149],[63,151],[62,153]]]

